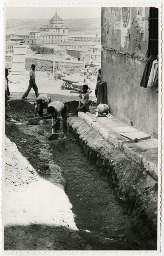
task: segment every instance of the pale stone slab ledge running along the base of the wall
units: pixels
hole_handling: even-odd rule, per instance
[[[149,134],[131,127],[120,120],[111,117],[95,118],[94,114],[78,113],[79,119],[85,121],[90,127],[98,131],[105,141],[119,148],[128,158],[132,159],[154,179],[158,180],[158,140],[150,139],[139,143],[122,143],[126,141],[120,133],[124,133],[132,139],[147,137]]]

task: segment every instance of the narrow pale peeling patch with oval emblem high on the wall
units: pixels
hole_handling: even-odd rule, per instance
[[[130,7],[122,7],[122,22],[121,22],[121,47],[124,48],[127,37],[127,31],[130,29]]]

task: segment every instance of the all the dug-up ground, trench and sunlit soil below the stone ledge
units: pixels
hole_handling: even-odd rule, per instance
[[[5,197],[24,218],[6,207],[5,250],[156,250],[156,181],[78,119],[78,101],[68,103],[67,141],[62,122],[55,141],[51,120],[25,125],[34,105],[22,102],[11,101],[18,122],[5,127],[6,147],[17,151],[12,163],[6,148]]]

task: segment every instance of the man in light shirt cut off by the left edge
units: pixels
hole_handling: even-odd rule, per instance
[[[8,104],[8,100],[10,98],[8,97],[8,94],[7,94],[7,85],[8,85],[7,76],[8,76],[8,69],[6,68],[5,69],[5,122],[17,122],[12,118],[11,112],[10,112],[10,105]]]

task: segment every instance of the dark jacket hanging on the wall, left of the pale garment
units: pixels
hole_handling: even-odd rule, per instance
[[[151,68],[153,65],[153,61],[155,60],[155,56],[154,55],[150,55],[150,57],[147,60],[147,63],[144,67],[144,72],[141,78],[141,82],[140,82],[140,86],[147,88],[147,83],[149,80],[149,76],[150,76],[150,72],[151,72]]]

